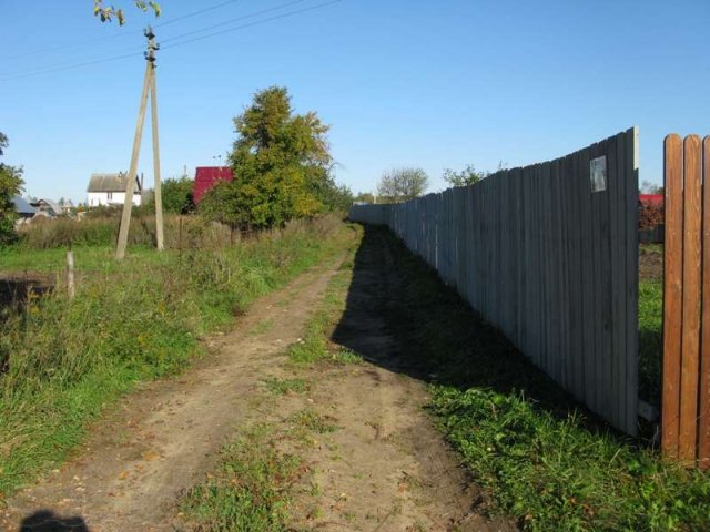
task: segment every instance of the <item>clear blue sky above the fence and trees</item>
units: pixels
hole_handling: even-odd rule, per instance
[[[170,38],[256,11],[282,6],[212,31],[325,1],[163,0],[158,21],[126,6],[120,28],[94,19],[91,0],[0,0],[4,162],[24,166],[28,193],[75,201],[92,172],[125,170],[149,21],[164,48],[164,177],[215,164],[235,137],[232,117],[273,84],[288,88],[297,112],[332,125],[337,178],[355,192],[403,165],[425,168],[440,190],[446,167],[541,162],[631,125],[640,178],[659,183],[667,133],[710,133],[710,0],[342,0],[169,48]],[[150,157],[146,123],[149,182]]]

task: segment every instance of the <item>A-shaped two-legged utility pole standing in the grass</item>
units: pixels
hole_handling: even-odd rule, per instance
[[[125,246],[129,239],[129,227],[131,225],[131,209],[133,207],[133,190],[135,186],[135,175],[138,172],[138,161],[141,153],[141,140],[143,137],[143,123],[145,122],[145,108],[148,96],[151,98],[151,121],[153,133],[153,174],[155,194],[155,239],[158,249],[163,249],[163,202],[160,183],[160,143],[158,139],[158,96],[155,89],[155,52],[160,45],[155,42],[155,34],[149,25],[144,31],[148,39],[148,51],[145,52],[145,75],[143,78],[143,91],[138,111],[138,122],[135,124],[135,135],[133,136],[133,151],[131,153],[131,164],[125,182],[125,200],[123,201],[123,214],[121,216],[121,228],[119,229],[119,242],[115,248],[115,257],[122,259],[125,256]]]

